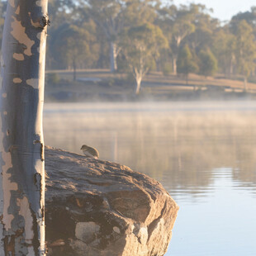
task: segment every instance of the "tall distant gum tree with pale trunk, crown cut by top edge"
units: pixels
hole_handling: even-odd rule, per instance
[[[117,70],[120,36],[125,27],[140,26],[152,21],[154,7],[159,0],[80,0],[85,15],[91,17],[102,30],[109,45],[111,72]]]

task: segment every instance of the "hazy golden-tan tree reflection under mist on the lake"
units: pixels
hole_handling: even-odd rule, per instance
[[[92,145],[101,159],[147,173],[184,200],[208,195],[212,170],[223,167],[234,187],[255,192],[255,113],[254,104],[235,103],[46,104],[45,143],[77,153]]]

